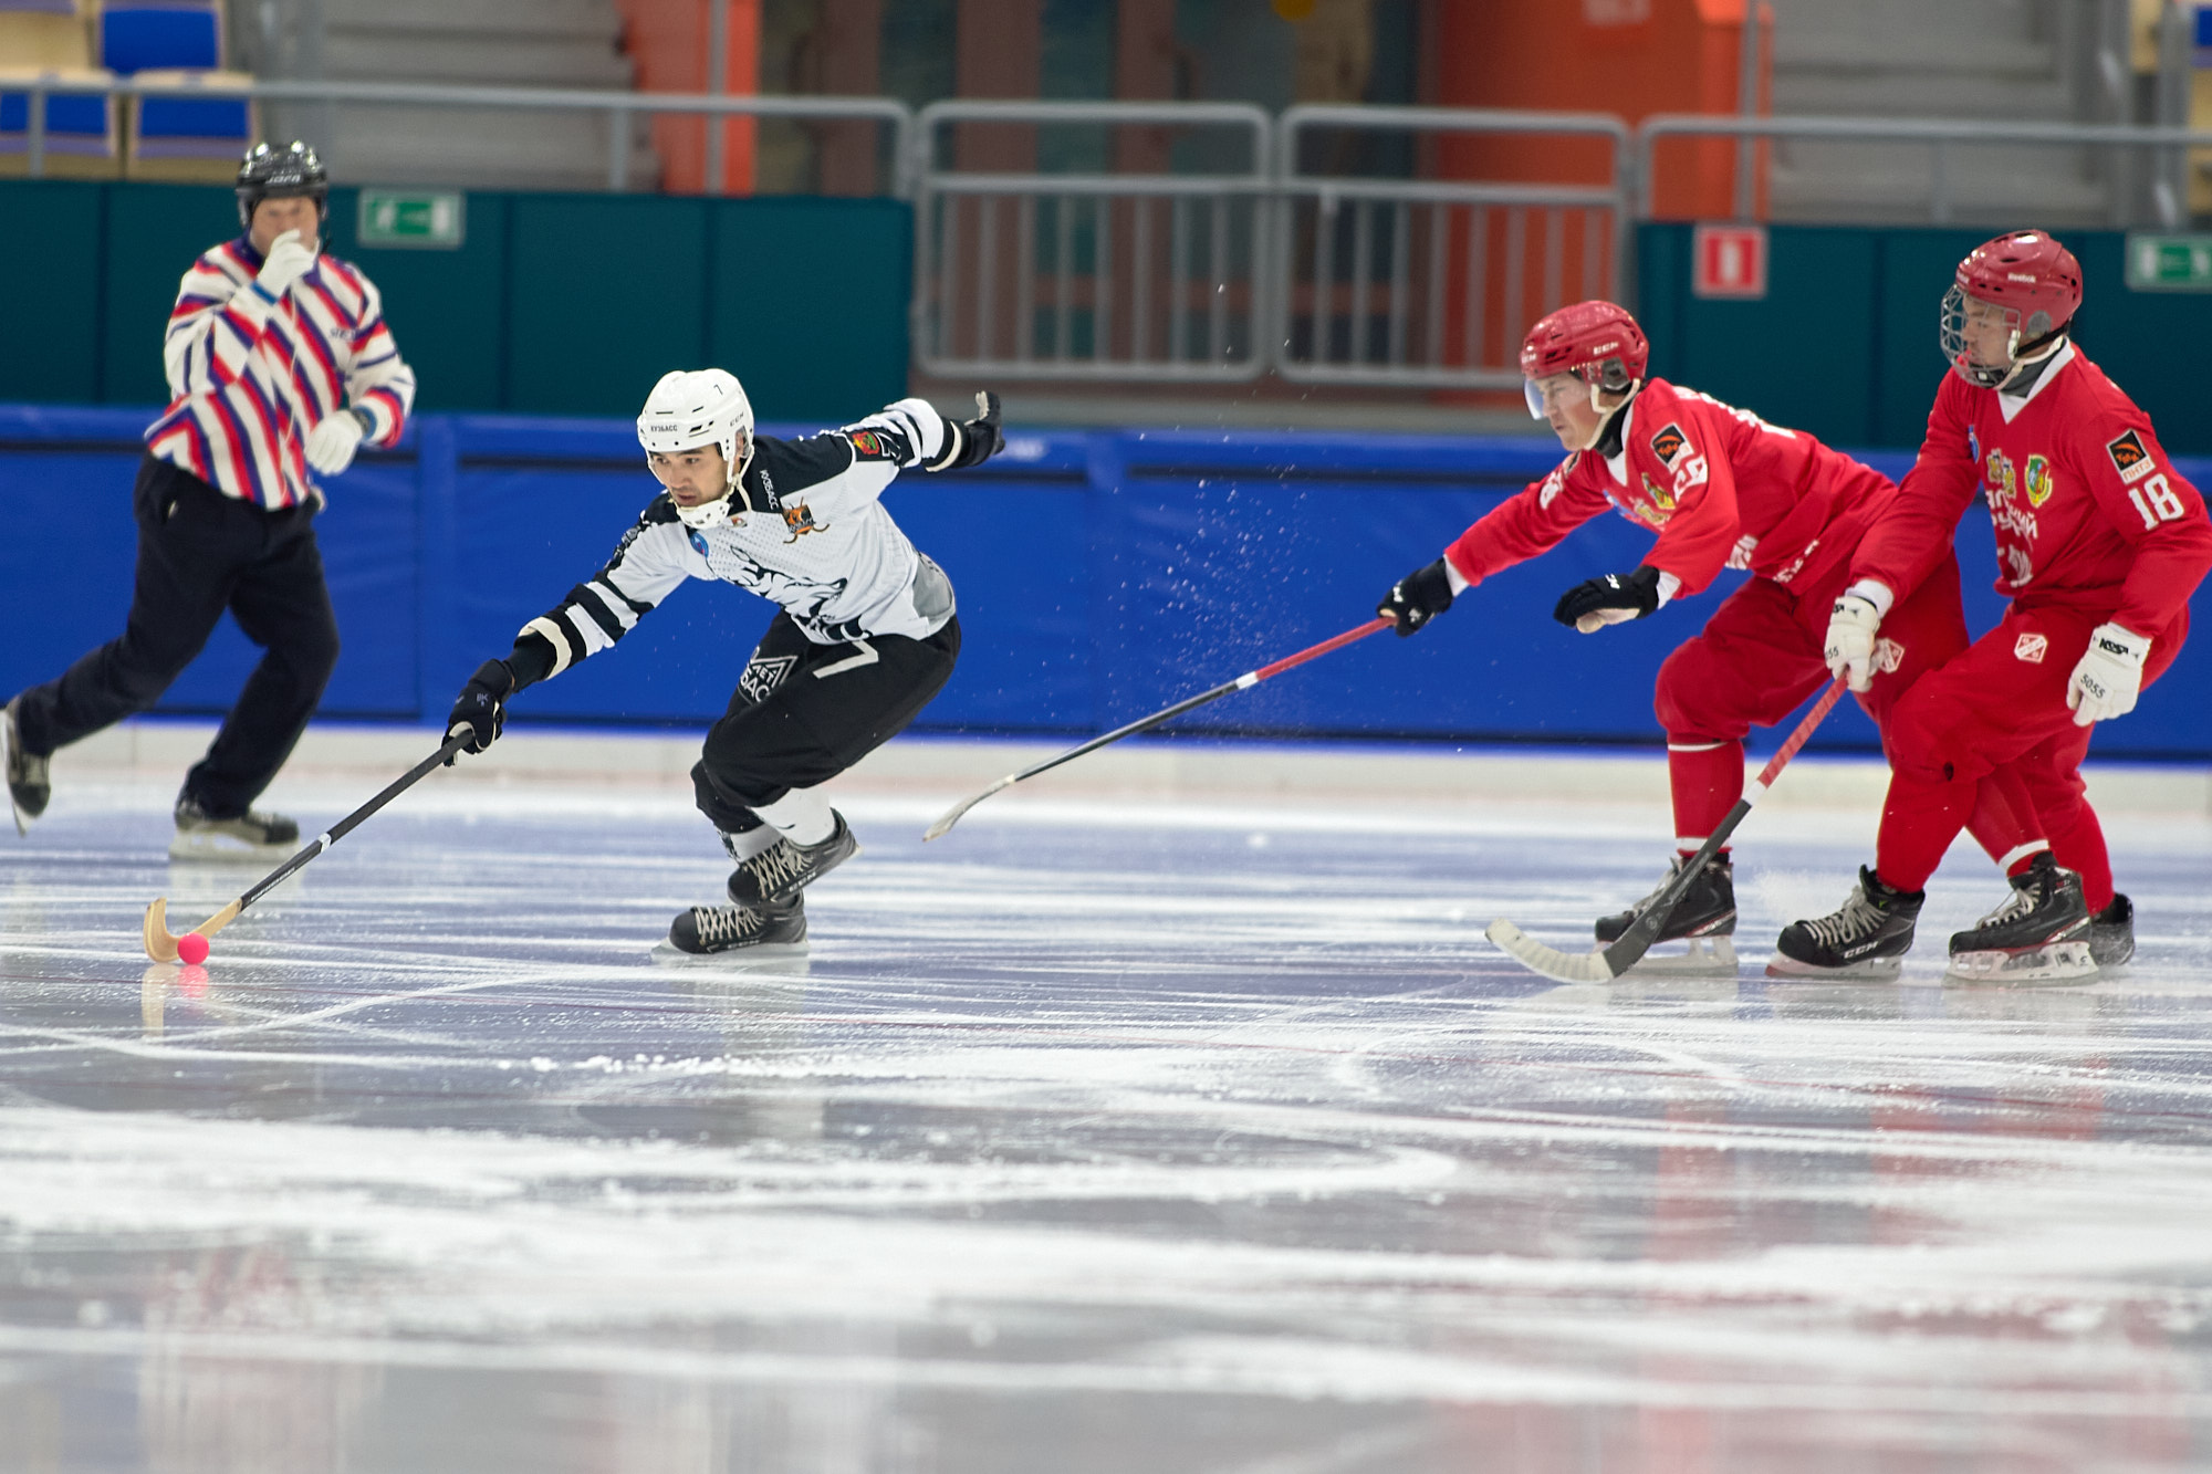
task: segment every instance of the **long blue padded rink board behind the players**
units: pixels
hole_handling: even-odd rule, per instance
[[[860,407],[856,407],[858,412]],[[122,629],[131,480],[150,412],[0,407],[0,688]],[[794,427],[783,427],[785,434]],[[1891,476],[1902,454],[1869,454]],[[916,730],[1093,733],[1358,624],[1407,569],[1557,463],[1551,440],[1261,432],[1018,432],[962,476],[909,474],[885,502],[960,595],[960,668]],[[2183,460],[2199,485],[2212,460]],[[626,421],[418,416],[394,454],[332,480],[319,529],[345,651],[330,717],[420,722],[513,631],[588,578],[655,494]],[[1659,662],[1741,575],[1584,637],[1551,606],[1632,569],[1648,533],[1599,518],[1509,569],[1418,640],[1378,637],[1183,717],[1210,733],[1655,744]],[[1960,527],[1966,620],[1989,629],[1989,520]],[[2197,609],[2205,604],[2199,591]],[[703,724],[770,606],[686,584],[619,651],[515,704],[515,722]],[[223,624],[164,713],[217,713],[254,662]],[[2212,653],[2183,651],[2104,757],[2212,757]],[[1816,744],[1871,750],[1849,706]]]

